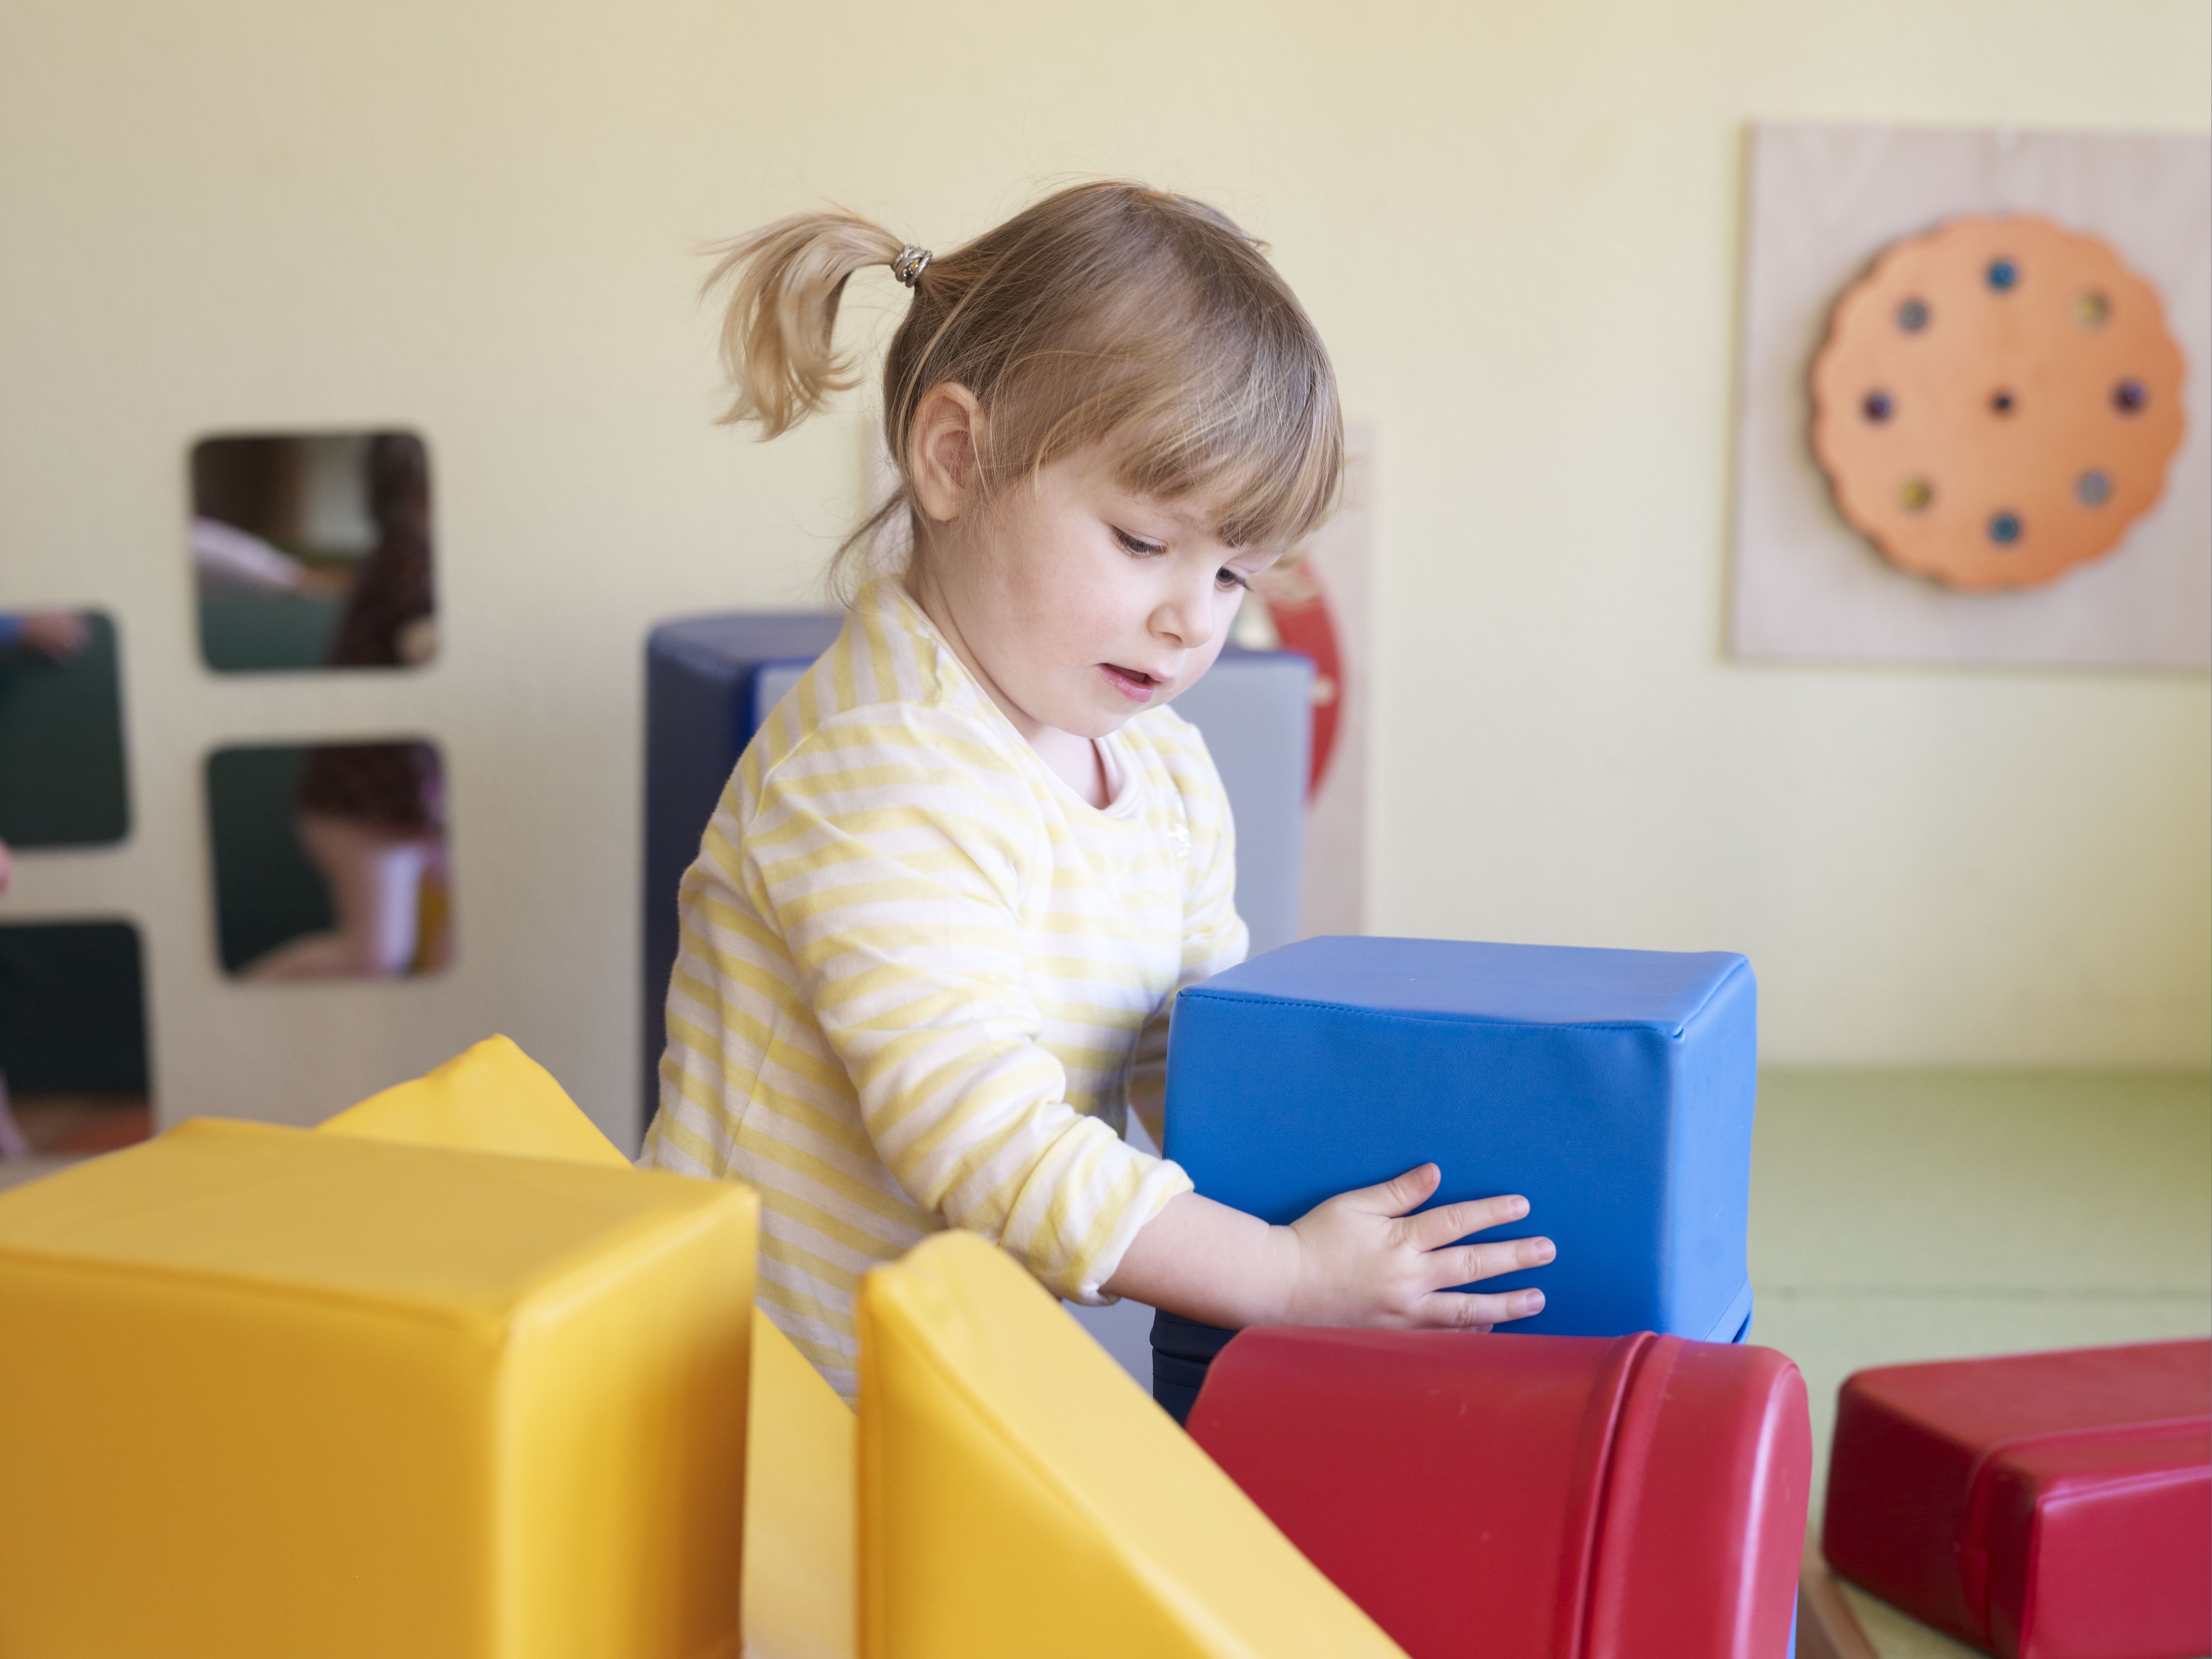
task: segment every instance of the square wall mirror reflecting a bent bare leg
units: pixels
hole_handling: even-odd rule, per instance
[[[208,757],[217,942],[248,980],[405,978],[453,956],[434,743]]]

